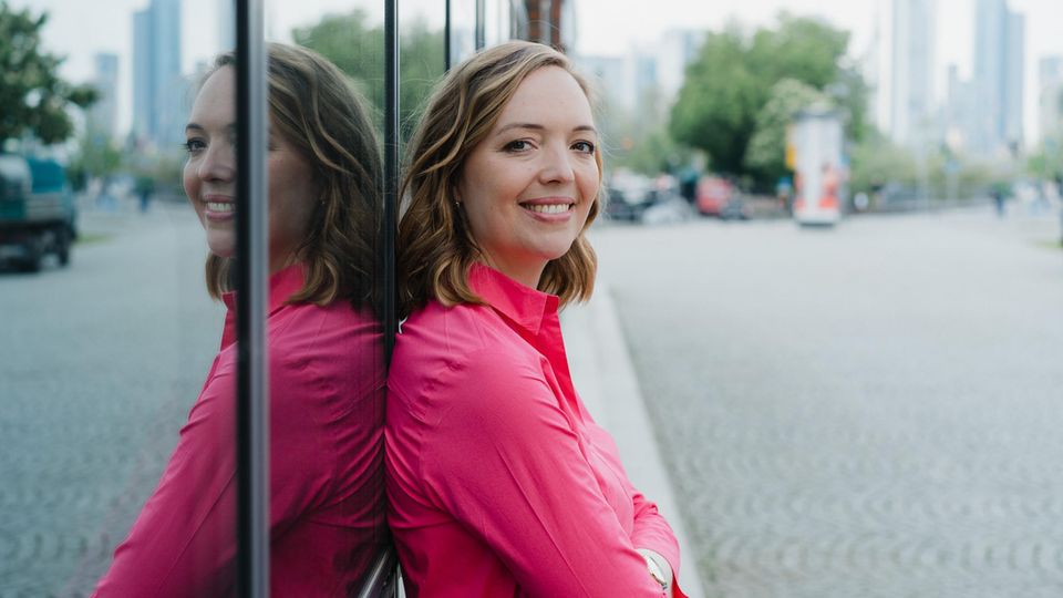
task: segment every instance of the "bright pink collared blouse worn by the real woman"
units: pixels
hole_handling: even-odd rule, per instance
[[[675,538],[572,388],[557,297],[478,265],[469,282],[487,305],[412,315],[388,379],[407,595],[660,597],[636,548],[678,571]]]

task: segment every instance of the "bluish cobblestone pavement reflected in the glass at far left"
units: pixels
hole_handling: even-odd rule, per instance
[[[217,350],[186,206],[89,214],[71,265],[0,271],[0,597],[85,596]]]

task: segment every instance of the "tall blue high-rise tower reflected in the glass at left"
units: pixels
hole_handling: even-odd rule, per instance
[[[133,134],[140,143],[184,138],[187,85],[180,76],[180,0],[152,0],[133,16]]]

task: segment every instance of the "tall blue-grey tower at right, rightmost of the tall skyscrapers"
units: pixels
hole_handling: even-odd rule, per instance
[[[1024,18],[1005,0],[976,0],[974,76],[979,97],[969,148],[979,154],[1016,151],[1022,144]]]

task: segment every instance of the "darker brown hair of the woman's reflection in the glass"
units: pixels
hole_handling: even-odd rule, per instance
[[[314,208],[295,252],[306,279],[288,302],[345,299],[375,307],[383,179],[368,110],[345,75],[319,54],[279,43],[267,50],[272,134],[307,161],[318,189],[317,197],[306,199]],[[225,66],[236,66],[235,53],[219,55],[211,73]],[[233,264],[234,258],[207,258],[211,297],[233,288]]]

